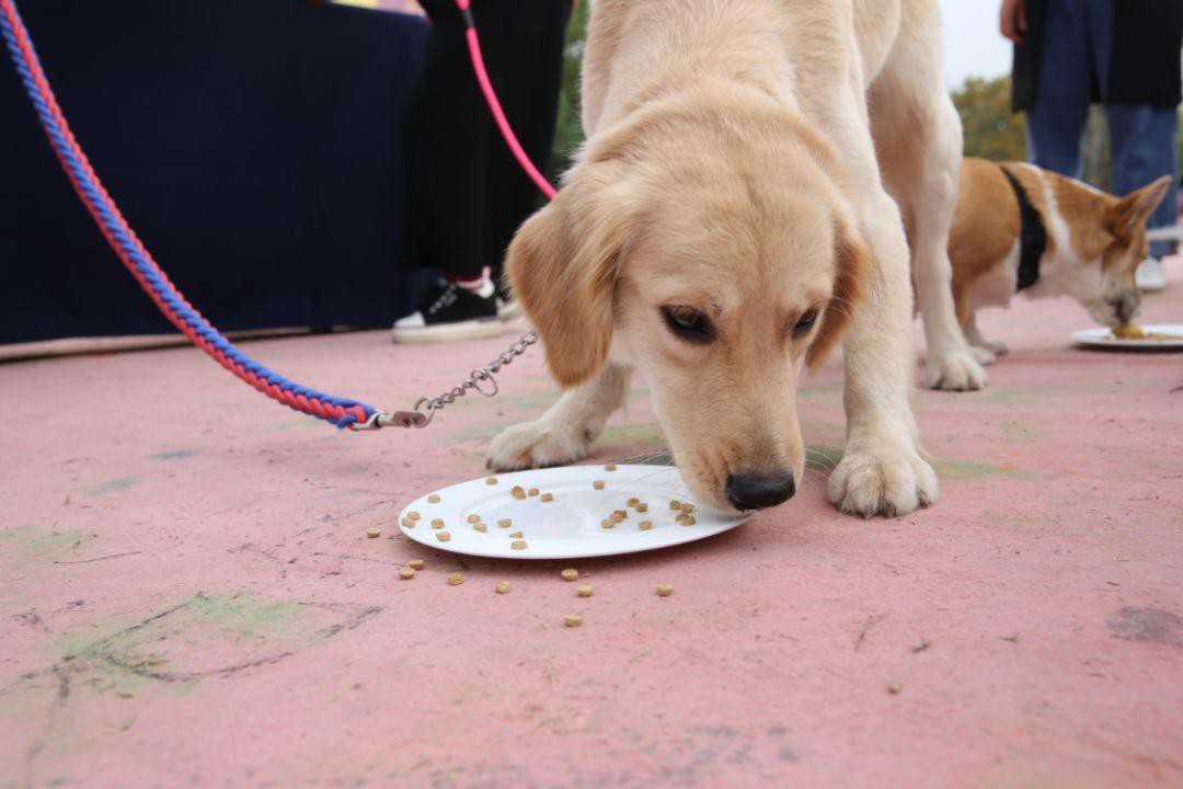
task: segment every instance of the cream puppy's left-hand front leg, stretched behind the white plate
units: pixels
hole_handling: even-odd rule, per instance
[[[564,394],[541,419],[502,432],[489,447],[497,471],[574,463],[588,454],[605,422],[625,402],[633,368],[608,362],[587,383]]]

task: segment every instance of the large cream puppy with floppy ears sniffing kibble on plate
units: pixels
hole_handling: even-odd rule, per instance
[[[830,500],[864,516],[935,502],[909,405],[901,211],[927,381],[984,382],[950,290],[962,137],[940,41],[936,0],[597,0],[588,142],[508,258],[569,390],[497,436],[490,465],[584,457],[635,368],[700,502],[778,504],[804,467],[797,382],[841,336]]]

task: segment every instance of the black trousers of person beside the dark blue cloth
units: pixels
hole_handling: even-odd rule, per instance
[[[500,267],[539,193],[490,116],[454,4],[422,5],[433,28],[403,127],[403,265],[468,278]],[[506,117],[542,169],[555,135],[570,0],[476,0],[473,17]]]

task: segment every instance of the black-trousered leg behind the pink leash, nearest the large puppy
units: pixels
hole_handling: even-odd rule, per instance
[[[489,14],[478,14],[477,25],[486,31],[490,76],[515,135],[535,167],[545,173],[558,115],[570,0],[486,4],[481,8]],[[486,147],[485,261],[499,277],[513,234],[543,198],[496,125],[489,130]]]

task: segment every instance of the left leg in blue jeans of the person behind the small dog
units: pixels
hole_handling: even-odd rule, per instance
[[[1027,112],[1027,159],[1077,177],[1088,121],[1092,63],[1081,0],[1048,0],[1035,108]]]

